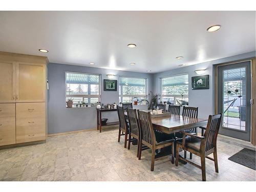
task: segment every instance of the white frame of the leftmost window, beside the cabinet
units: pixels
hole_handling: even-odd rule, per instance
[[[88,84],[88,95],[67,95],[67,73],[77,73],[77,74],[85,74],[85,75],[98,75],[99,76],[99,83],[80,83],[80,84]],[[99,95],[89,95],[91,92],[91,84],[98,84],[99,85]],[[82,73],[82,72],[72,72],[72,71],[66,71],[65,72],[65,99],[67,101],[67,97],[82,97],[82,102],[84,102],[84,98],[95,98],[98,97],[98,101],[100,102],[101,99],[101,74],[95,74],[95,73]],[[90,100],[90,99],[89,99]],[[89,102],[88,104],[91,104]]]

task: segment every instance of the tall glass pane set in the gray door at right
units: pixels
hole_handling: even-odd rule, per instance
[[[223,126],[245,131],[246,79],[245,68],[223,71]]]

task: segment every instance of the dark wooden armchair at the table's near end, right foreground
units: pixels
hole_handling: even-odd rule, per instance
[[[193,164],[202,170],[202,180],[206,181],[205,158],[207,158],[214,161],[215,171],[219,173],[217,159],[217,136],[220,129],[221,118],[222,114],[209,115],[204,136],[198,136],[182,132],[182,141],[177,141],[176,144],[176,166],[178,166],[179,158],[187,163]],[[201,158],[201,166],[191,161],[188,161],[183,157],[179,157],[179,148],[183,148],[184,151],[188,151],[199,156]],[[212,153],[214,154],[214,159],[208,157],[208,155]]]

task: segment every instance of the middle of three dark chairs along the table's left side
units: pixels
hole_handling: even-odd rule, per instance
[[[127,109],[127,116],[129,120],[129,139],[128,139],[128,150],[130,150],[132,137],[138,140],[137,146],[137,157],[139,157],[139,140],[140,140],[140,130],[139,121],[136,109]]]

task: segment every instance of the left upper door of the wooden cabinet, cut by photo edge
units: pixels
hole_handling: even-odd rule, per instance
[[[0,103],[15,102],[15,64],[0,61]]]

